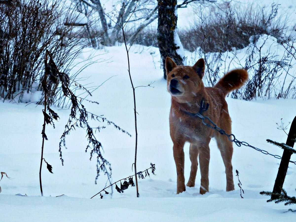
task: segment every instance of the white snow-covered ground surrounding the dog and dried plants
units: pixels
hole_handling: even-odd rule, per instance
[[[291,10],[295,10],[293,1],[283,3],[288,9],[290,5]],[[181,11],[178,16],[185,22],[181,19]],[[244,53],[244,50],[241,52]],[[94,55],[105,61],[86,68],[80,77],[89,78],[81,84],[104,84],[94,91],[92,98],[88,98],[98,101],[99,105],[87,102],[84,105],[132,135],[129,137],[112,125],[99,123],[99,126],[107,127],[97,133],[97,138],[104,147],[104,158],[112,164],[115,182],[133,174],[133,92],[123,45],[97,51],[86,49],[76,62]],[[0,103],[0,171],[13,179],[3,177],[0,181],[0,221],[295,221],[295,213],[284,213],[289,208],[295,208],[293,205],[267,203],[268,197],[259,194],[263,190],[272,191],[280,160],[248,147],[234,145],[232,161],[234,175],[235,170],[239,171],[244,199],[240,197],[237,176],[234,176],[235,190],[225,191],[225,168],[214,140],[210,142],[210,192],[199,194],[198,170],[196,187],[186,187],[186,192],[176,195],[176,166],[168,123],[170,94],[162,77],[159,51],[153,47],[134,45],[129,55],[134,86],[146,86],[153,82],[152,87],[136,88],[137,169],[145,170],[150,163],[156,167],[156,175],[150,174],[150,178],[139,180],[140,197],[136,197],[136,188],[130,187],[124,193],[114,189],[112,199],[104,194],[103,199],[99,196],[90,199],[104,188],[107,178],[102,174],[97,184],[94,183],[96,158],[89,161],[90,154],[85,153],[86,132],[79,128],[66,137],[68,149],[62,150],[65,161],[62,166],[58,145],[70,110],[57,107],[52,109],[60,119],[55,123],[56,129],[46,126],[49,140],[44,148],[44,158],[52,165],[54,174],[49,173],[43,164],[44,197],[41,197],[39,164],[43,106],[5,101]],[[188,58],[193,57],[188,54]],[[192,64],[194,61],[188,62]],[[243,101],[226,98],[226,101],[232,119],[232,133],[238,140],[274,155],[282,155],[282,150],[268,144],[266,139],[286,142],[287,135],[277,129],[276,123],[281,123],[282,119],[286,125],[293,120],[296,115],[295,99]],[[189,144],[185,145],[184,152],[185,178],[188,180]],[[291,159],[296,161],[296,155],[292,155]],[[290,163],[284,183],[284,189],[290,196],[296,195],[295,176],[296,165]],[[110,192],[110,188],[106,191]],[[63,196],[56,197],[59,195]]]

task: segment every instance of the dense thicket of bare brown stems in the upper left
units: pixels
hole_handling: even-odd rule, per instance
[[[55,52],[62,70],[71,69],[85,44],[75,38],[73,26],[65,25],[71,20],[75,15],[57,0],[1,1],[0,97],[30,102],[27,98],[41,89],[46,49]],[[58,85],[54,90],[60,90]],[[35,99],[42,100],[41,93],[36,94]]]

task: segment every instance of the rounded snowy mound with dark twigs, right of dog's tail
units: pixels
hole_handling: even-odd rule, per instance
[[[244,88],[231,96],[246,100],[257,97],[295,98],[295,50],[289,52],[285,43],[277,43],[277,39],[270,35],[254,38],[256,40],[243,50],[246,57],[244,62],[241,61],[250,73],[250,79]]]

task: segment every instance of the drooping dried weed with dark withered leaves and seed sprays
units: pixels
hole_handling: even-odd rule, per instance
[[[47,60],[49,60],[49,61],[47,62]],[[102,156],[102,153],[101,153],[102,144],[95,137],[96,130],[99,131],[101,128],[105,128],[105,127],[99,127],[99,126],[98,127],[91,127],[91,125],[89,124],[89,119],[94,120],[94,121],[102,120],[102,122],[106,121],[108,125],[112,124],[112,125],[114,125],[114,127],[116,129],[122,131],[123,133],[128,134],[129,136],[131,136],[131,135],[128,132],[126,132],[124,129],[119,127],[117,124],[115,124],[114,122],[109,121],[106,118],[102,117],[102,115],[99,116],[99,115],[96,115],[93,113],[89,113],[86,110],[86,108],[81,103],[83,98],[76,96],[73,93],[73,91],[70,90],[70,80],[71,80],[70,77],[65,72],[59,72],[59,69],[57,68],[57,65],[55,64],[55,62],[53,60],[52,54],[48,50],[46,50],[45,69],[46,69],[46,72],[44,73],[44,76],[42,77],[42,81],[41,81],[41,85],[42,85],[42,88],[43,88],[45,96],[46,96],[45,97],[46,106],[45,106],[45,110],[43,110],[45,123],[52,124],[54,127],[53,120],[57,120],[57,118],[59,118],[57,113],[55,113],[50,108],[50,105],[53,102],[51,96],[54,96],[52,88],[54,88],[56,85],[61,84],[61,90],[62,90],[63,95],[65,97],[69,98],[70,103],[72,104],[70,117],[68,119],[67,124],[65,125],[65,130],[64,130],[62,136],[60,137],[60,142],[59,142],[59,153],[60,153],[60,159],[62,161],[62,165],[64,162],[64,160],[62,159],[62,147],[66,148],[66,140],[65,140],[66,135],[69,135],[70,131],[75,130],[75,127],[80,127],[80,128],[86,129],[86,132],[87,132],[86,137],[87,137],[87,140],[89,143],[86,146],[85,152],[87,152],[87,150],[91,149],[90,160],[94,154],[97,154],[96,180],[98,179],[100,172],[103,171],[104,175],[107,175],[108,181],[111,184],[111,175],[112,175],[111,164],[109,163],[109,161],[107,161]],[[85,87],[83,87],[82,85],[80,85],[76,81],[74,81],[74,83],[75,83],[76,87],[83,89],[86,93],[91,95],[91,92],[89,90],[87,90]],[[78,98],[80,100],[78,100]],[[86,100],[86,101],[88,101],[90,103],[98,104],[98,102],[96,102],[96,101],[90,101],[90,100]],[[48,113],[46,113],[45,111],[47,111]],[[78,115],[79,115],[79,117],[78,117]],[[45,140],[47,140],[47,136],[45,134],[45,127],[43,127],[42,136],[43,136],[43,138],[45,138]],[[45,161],[44,158],[43,158],[43,160]],[[47,164],[47,169],[49,170],[49,172],[52,173],[52,166],[49,163],[47,163],[46,161],[45,161],[45,163]],[[95,183],[96,183],[96,180],[95,180]]]

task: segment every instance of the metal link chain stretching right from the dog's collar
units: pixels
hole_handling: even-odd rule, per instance
[[[208,107],[208,106],[207,106]],[[207,108],[204,108],[203,107],[203,101],[202,101],[202,103],[201,103],[201,109],[200,109],[200,112],[199,113],[196,113],[196,114],[194,114],[194,113],[190,113],[190,112],[186,112],[185,111],[185,113],[186,114],[188,114],[188,115],[190,115],[190,116],[196,116],[196,117],[199,117],[200,119],[202,119],[202,123],[204,124],[204,125],[206,125],[207,127],[210,127],[210,128],[212,128],[212,129],[214,129],[214,130],[216,130],[216,131],[218,131],[221,135],[226,135],[227,137],[228,137],[228,139],[231,141],[231,142],[234,142],[237,146],[242,146],[242,145],[244,145],[244,146],[247,146],[247,147],[250,147],[250,148],[253,148],[254,150],[257,150],[257,151],[260,151],[261,153],[263,153],[263,154],[266,154],[266,155],[271,155],[271,156],[273,156],[274,158],[277,158],[277,159],[281,159],[281,156],[279,156],[279,155],[273,155],[273,154],[271,154],[271,153],[268,153],[266,150],[261,150],[261,149],[259,149],[259,148],[257,148],[257,147],[254,147],[254,146],[252,146],[252,145],[250,145],[249,143],[247,143],[247,142],[244,142],[244,141],[239,141],[239,140],[237,140],[236,138],[235,138],[235,136],[233,135],[233,134],[227,134],[223,129],[221,129],[221,128],[219,128],[209,117],[207,117],[207,116],[202,116],[202,112],[203,111],[206,111],[207,110]],[[207,119],[208,121],[210,121],[210,123],[211,124],[213,124],[213,126],[211,126],[210,124],[207,124],[206,122],[205,122],[205,119]],[[231,140],[231,138],[230,138],[230,136],[233,136],[233,140]],[[289,161],[290,163],[294,163],[295,165],[296,165],[296,161]]]

